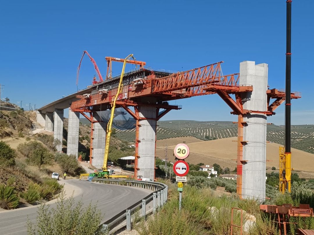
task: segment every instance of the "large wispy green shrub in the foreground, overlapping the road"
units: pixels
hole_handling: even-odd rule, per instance
[[[84,208],[82,199],[78,202],[74,201],[73,196],[65,199],[65,193],[62,192],[57,200],[56,208],[50,209],[49,205],[41,204],[36,218],[37,223],[27,221],[27,234],[93,235],[97,232],[101,219],[101,211],[97,210],[97,205],[92,206],[89,203]],[[98,232],[97,234],[105,233]]]

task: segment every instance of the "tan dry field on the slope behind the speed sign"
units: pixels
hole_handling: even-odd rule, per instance
[[[160,159],[165,159],[165,144],[168,145],[167,155],[170,161],[174,161],[173,149],[176,144],[186,141],[190,148],[190,155],[187,158],[187,162],[192,164],[204,163],[212,165],[214,163],[219,164],[221,167],[229,167],[233,170],[236,167],[236,162],[232,159],[236,159],[237,152],[237,138],[223,138],[209,141],[198,141],[193,137],[187,138],[171,138],[157,141],[156,156]],[[173,144],[173,145],[171,145]],[[279,146],[280,144],[267,143],[267,167],[279,168]],[[298,149],[291,149],[292,151],[292,167],[299,171],[314,172],[314,154],[310,154]]]

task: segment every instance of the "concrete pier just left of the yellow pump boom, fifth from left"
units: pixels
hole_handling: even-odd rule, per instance
[[[106,145],[106,123],[103,123],[97,112],[93,112],[94,123],[93,129],[93,152],[92,165],[101,168],[104,163],[105,145]]]

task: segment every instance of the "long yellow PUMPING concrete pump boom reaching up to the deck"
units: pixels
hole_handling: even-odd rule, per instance
[[[117,91],[116,95],[112,98],[112,101],[111,101],[111,115],[110,115],[110,120],[109,120],[109,122],[107,124],[104,164],[102,165],[102,170],[103,171],[107,171],[107,161],[108,161],[108,153],[109,153],[109,143],[110,143],[110,136],[111,136],[111,127],[112,127],[112,120],[113,120],[113,116],[114,116],[114,112],[115,112],[115,108],[116,108],[116,100],[118,99],[118,96],[119,96],[119,94],[122,91],[122,86],[123,86],[122,79],[123,79],[125,65],[127,63],[127,60],[130,59],[131,57],[135,61],[135,65],[136,65],[136,59],[133,57],[133,54],[128,55],[124,59],[123,66],[122,66],[122,72],[121,72],[121,76],[120,76],[120,81],[119,81],[119,86],[118,86],[118,91]]]

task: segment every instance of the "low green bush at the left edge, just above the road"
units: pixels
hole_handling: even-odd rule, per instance
[[[19,197],[14,187],[0,184],[0,207],[3,209],[14,209],[19,205]]]

